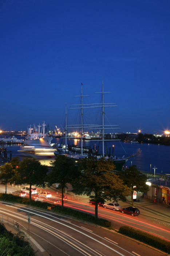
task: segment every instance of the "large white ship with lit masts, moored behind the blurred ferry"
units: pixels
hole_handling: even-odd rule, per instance
[[[41,126],[38,125],[37,127],[38,129],[34,125],[33,128],[31,128],[31,125],[30,125],[28,129],[28,135],[25,137],[23,141],[24,145],[49,147],[53,138],[49,137],[48,133],[45,133],[45,129],[44,129],[45,122],[43,122],[42,124],[41,132],[40,132]]]

